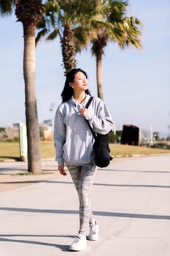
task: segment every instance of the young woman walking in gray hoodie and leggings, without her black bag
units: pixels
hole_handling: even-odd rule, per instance
[[[88,77],[82,69],[72,69],[66,76],[61,97],[61,105],[55,113],[54,141],[58,170],[65,176],[66,164],[80,201],[80,229],[69,249],[81,251],[87,246],[86,231],[89,225],[89,240],[98,240],[98,224],[93,217],[90,205],[90,192],[96,173],[93,154],[93,131],[107,134],[113,129],[113,121],[104,102],[94,97],[90,99]]]

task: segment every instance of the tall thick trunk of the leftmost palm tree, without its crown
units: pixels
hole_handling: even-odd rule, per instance
[[[34,23],[23,23],[24,52],[23,77],[26,95],[26,127],[28,140],[28,171],[41,173],[39,151],[39,123],[35,93],[35,29]]]

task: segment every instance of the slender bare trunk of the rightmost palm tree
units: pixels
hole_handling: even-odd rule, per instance
[[[101,79],[101,62],[102,62],[102,53],[98,53],[96,56],[97,91],[98,91],[98,97],[101,100],[104,100],[103,85],[102,85],[102,79]]]

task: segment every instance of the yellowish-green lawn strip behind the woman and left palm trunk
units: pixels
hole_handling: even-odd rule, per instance
[[[148,148],[144,146],[128,146],[120,144],[110,144],[111,154],[114,157],[131,157],[134,154],[150,155],[150,154],[170,154],[169,149],[162,148]],[[55,158],[55,148],[53,141],[40,142],[41,157]],[[20,159],[20,146],[18,142],[4,142],[0,141],[0,162],[7,159]]]

